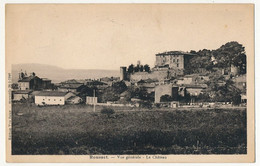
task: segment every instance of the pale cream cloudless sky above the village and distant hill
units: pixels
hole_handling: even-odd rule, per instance
[[[11,64],[109,69],[155,63],[164,51],[253,45],[252,5],[7,5]],[[252,52],[247,51],[252,54]]]

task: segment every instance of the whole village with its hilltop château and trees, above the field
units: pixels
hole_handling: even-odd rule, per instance
[[[13,102],[36,105],[88,104],[128,107],[221,107],[246,105],[244,47],[229,42],[216,50],[166,51],[155,66],[120,67],[120,77],[67,80],[53,84],[21,71]]]

